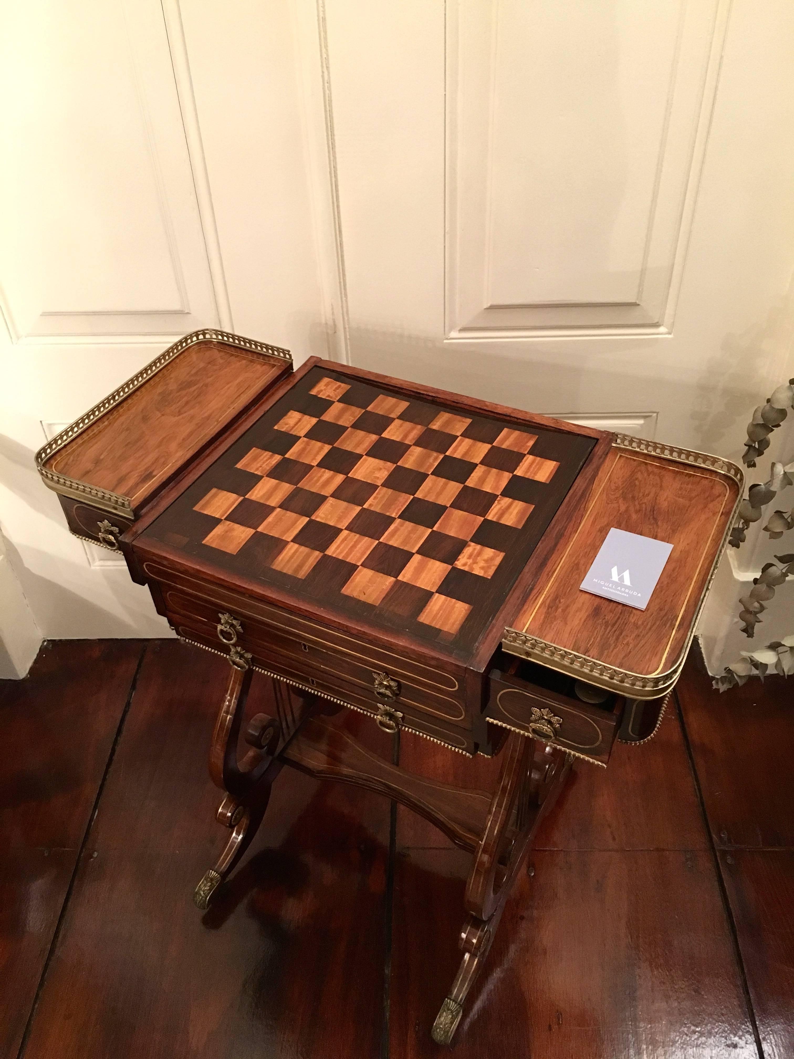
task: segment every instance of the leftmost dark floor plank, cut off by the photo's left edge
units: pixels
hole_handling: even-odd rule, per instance
[[[0,1055],[15,1056],[124,713],[140,641],[46,644],[0,682]]]

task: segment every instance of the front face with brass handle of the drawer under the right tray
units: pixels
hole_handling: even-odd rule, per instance
[[[607,765],[624,703],[618,699],[613,711],[599,710],[494,670],[485,715],[488,720]]]

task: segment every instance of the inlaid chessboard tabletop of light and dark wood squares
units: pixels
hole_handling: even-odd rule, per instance
[[[467,656],[593,445],[314,366],[141,542]]]

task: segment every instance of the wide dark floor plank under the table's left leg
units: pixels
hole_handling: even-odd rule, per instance
[[[259,834],[202,918],[228,831],[206,752],[217,657],[150,648],[25,1059],[349,1056],[380,1047],[389,803],[285,768]],[[274,713],[256,676],[249,712]],[[391,739],[366,718],[368,746]]]

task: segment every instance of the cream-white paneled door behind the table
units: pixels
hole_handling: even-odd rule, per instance
[[[0,13],[0,528],[41,635],[162,634],[33,452],[196,327],[734,457],[794,374],[789,0]]]

